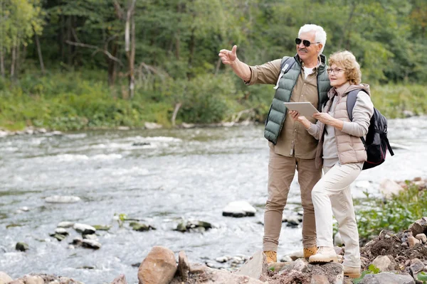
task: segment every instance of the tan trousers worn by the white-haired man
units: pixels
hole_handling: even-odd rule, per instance
[[[277,251],[282,215],[288,200],[290,184],[298,171],[301,190],[302,245],[305,248],[316,246],[315,211],[312,203],[312,188],[322,177],[322,170],[316,169],[315,159],[285,157],[274,153],[270,147],[268,162],[268,200],[264,214],[264,251]]]

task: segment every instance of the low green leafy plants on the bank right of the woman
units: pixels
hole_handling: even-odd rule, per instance
[[[359,239],[362,243],[379,235],[383,229],[398,233],[408,229],[408,226],[427,215],[427,190],[421,190],[417,185],[406,181],[408,188],[394,195],[389,200],[371,197],[356,200],[357,226]]]

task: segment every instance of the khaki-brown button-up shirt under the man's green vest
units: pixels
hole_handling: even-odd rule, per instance
[[[263,65],[250,66],[251,80],[246,84],[273,84],[275,85],[280,75],[281,60],[273,60]],[[312,74],[305,79],[304,65],[300,72],[300,76],[295,83],[290,96],[290,102],[310,102],[316,109],[319,102],[317,94],[317,72],[318,67],[313,68]],[[316,123],[316,119],[307,117],[312,124]],[[285,123],[282,131],[280,131],[278,142],[276,145],[270,143],[274,152],[286,157],[302,159],[314,159],[316,155],[316,147],[318,141],[311,136],[302,124],[292,119],[290,114],[286,114]]]

